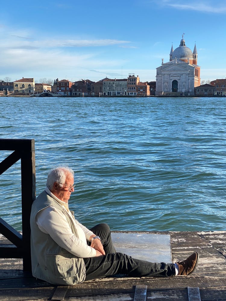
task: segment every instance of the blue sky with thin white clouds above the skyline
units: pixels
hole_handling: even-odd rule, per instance
[[[155,81],[183,33],[201,80],[225,78],[225,15],[225,0],[12,0],[0,12],[0,79]]]

